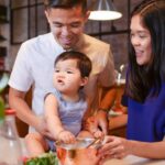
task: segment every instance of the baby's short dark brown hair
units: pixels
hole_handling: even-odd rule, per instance
[[[87,55],[76,51],[64,52],[55,59],[54,67],[59,61],[66,59],[77,59],[77,68],[80,70],[81,77],[89,77],[92,66]]]

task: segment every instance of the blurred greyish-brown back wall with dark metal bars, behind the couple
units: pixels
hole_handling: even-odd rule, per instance
[[[85,32],[111,44],[116,69],[127,64],[130,12],[142,0],[111,0],[122,18],[110,21],[89,20]],[[88,0],[91,7],[96,0]],[[0,0],[0,69],[11,70],[20,44],[50,31],[43,0]]]

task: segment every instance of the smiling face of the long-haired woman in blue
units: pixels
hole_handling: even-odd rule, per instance
[[[141,23],[139,14],[131,19],[131,43],[135,51],[136,63],[146,65],[150,63],[152,55],[151,34]]]

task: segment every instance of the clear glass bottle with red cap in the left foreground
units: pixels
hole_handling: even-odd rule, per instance
[[[22,165],[22,148],[15,127],[14,110],[4,110],[0,123],[0,165]]]

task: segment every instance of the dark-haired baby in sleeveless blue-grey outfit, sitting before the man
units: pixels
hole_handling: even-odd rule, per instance
[[[88,114],[87,97],[81,89],[91,72],[90,59],[80,52],[69,51],[62,53],[54,66],[55,90],[45,96],[45,120],[54,140],[37,132],[29,133],[25,142],[31,156],[55,151],[55,141],[74,143],[76,136],[92,136],[90,132],[81,131],[85,113]]]

